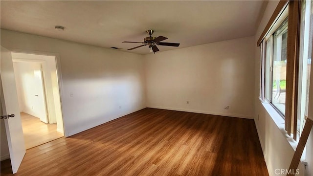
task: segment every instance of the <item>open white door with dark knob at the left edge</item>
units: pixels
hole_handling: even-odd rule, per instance
[[[8,114],[15,115],[14,117],[4,117],[4,119],[2,119],[5,124],[12,171],[13,174],[15,174],[21,165],[26,151],[11,52],[2,46],[0,58],[0,78],[0,108],[3,113],[1,116],[8,116]]]

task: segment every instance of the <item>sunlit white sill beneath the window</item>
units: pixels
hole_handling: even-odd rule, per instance
[[[281,116],[280,113],[275,110],[272,105],[268,102],[263,102],[261,99],[259,99],[265,108],[267,110],[269,116],[272,118],[272,120],[275,122],[278,129],[282,132],[282,134],[285,136],[285,139],[288,141],[290,146],[292,147],[293,151],[295,151],[298,141],[293,140],[293,135],[288,135],[288,133],[285,131],[285,119]],[[301,160],[305,160],[305,150],[303,151],[303,154],[301,156]]]

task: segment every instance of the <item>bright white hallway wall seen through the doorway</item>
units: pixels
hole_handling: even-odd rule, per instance
[[[48,123],[41,64],[36,62],[14,62],[13,67],[19,105],[22,108],[20,111],[38,117],[41,121]]]

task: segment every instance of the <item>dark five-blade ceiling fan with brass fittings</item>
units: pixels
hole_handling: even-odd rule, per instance
[[[127,49],[127,50],[133,50],[133,49],[136,49],[136,48],[141,47],[141,46],[149,45],[150,52],[156,53],[156,51],[159,51],[159,49],[157,48],[156,45],[176,46],[176,47],[179,46],[178,43],[161,42],[161,41],[163,41],[163,40],[166,40],[166,39],[167,39],[166,37],[163,37],[163,36],[152,37],[151,35],[152,35],[153,32],[154,32],[154,30],[152,30],[152,29],[147,30],[146,32],[148,33],[148,35],[149,35],[150,37],[144,38],[144,39],[143,39],[144,42],[123,42],[123,43],[140,43],[140,44],[142,44],[142,45],[140,45],[140,46],[136,46],[136,47],[133,47],[133,48],[130,48],[130,49]]]

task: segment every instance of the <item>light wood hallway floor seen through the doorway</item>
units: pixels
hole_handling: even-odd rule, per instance
[[[45,124],[39,118],[23,112],[21,119],[26,149],[63,137],[62,133],[57,132],[57,124]]]

